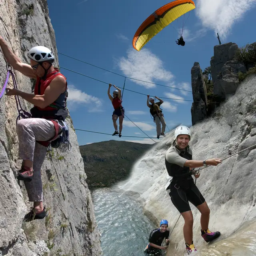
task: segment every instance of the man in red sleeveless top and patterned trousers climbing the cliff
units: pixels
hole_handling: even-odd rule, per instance
[[[18,154],[22,166],[18,170],[18,180],[23,180],[30,202],[34,202],[25,220],[43,219],[46,216],[43,206],[43,188],[41,167],[46,156],[48,141],[54,140],[62,132],[61,126],[54,120],[65,120],[67,82],[58,69],[52,66],[54,55],[44,46],[35,46],[28,51],[30,65],[22,63],[0,36],[0,47],[4,57],[15,70],[36,79],[34,94],[6,87],[6,95],[18,95],[33,104],[30,110],[32,118],[17,122],[16,130],[19,141]]]

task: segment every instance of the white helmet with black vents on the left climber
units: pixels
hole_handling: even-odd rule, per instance
[[[52,51],[44,46],[35,46],[31,48],[27,55],[36,62],[54,62],[54,55]]]

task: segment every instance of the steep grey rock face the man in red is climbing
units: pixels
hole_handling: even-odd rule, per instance
[[[36,45],[52,50],[58,66],[55,35],[46,0],[5,0],[0,2],[0,33],[14,53],[28,62],[26,52]],[[6,62],[0,51],[0,84],[6,78]],[[18,88],[31,92],[32,80],[14,71]],[[9,80],[9,86],[13,86]],[[2,86],[1,86],[2,87]],[[24,110],[30,104],[21,100]],[[84,164],[70,117],[72,150],[54,149],[42,166],[44,205],[48,215],[43,220],[22,222],[32,206],[23,182],[17,182],[18,159],[14,97],[0,100],[0,256],[55,256],[102,254],[91,194],[85,182]]]

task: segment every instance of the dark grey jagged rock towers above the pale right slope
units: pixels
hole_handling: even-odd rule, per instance
[[[245,64],[235,59],[238,49],[237,44],[232,42],[214,46],[214,56],[210,61],[213,90],[208,96],[208,101],[209,92],[204,82],[205,78],[208,78],[202,76],[199,63],[195,62],[191,70],[192,92],[193,100],[200,102],[192,103],[192,125],[202,121],[214,111],[219,102],[236,92],[239,85],[238,72],[246,72]]]

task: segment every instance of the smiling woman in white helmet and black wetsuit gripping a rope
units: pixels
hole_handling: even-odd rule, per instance
[[[174,132],[175,140],[165,154],[165,165],[169,180],[166,190],[170,190],[172,203],[184,218],[183,234],[188,254],[196,251],[193,244],[193,215],[188,203],[191,202],[201,213],[201,236],[206,242],[210,242],[220,236],[220,232],[209,230],[210,209],[194,183],[190,170],[192,168],[218,165],[221,160],[212,158],[208,160],[192,160],[192,150],[188,145],[190,141],[190,129],[186,126],[178,126]],[[199,178],[200,174],[194,174]]]

